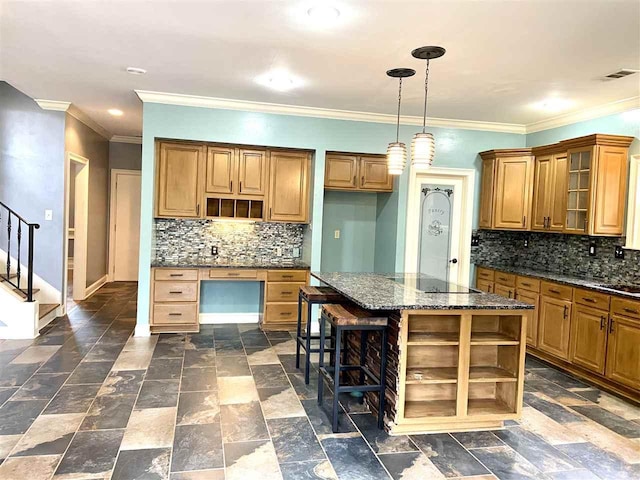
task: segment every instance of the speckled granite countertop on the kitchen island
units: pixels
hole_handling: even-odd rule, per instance
[[[419,276],[416,274],[311,272],[311,275],[367,310],[533,309],[532,305],[490,293],[425,293],[394,280]]]

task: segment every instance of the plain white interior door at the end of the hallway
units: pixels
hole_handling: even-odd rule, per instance
[[[140,172],[115,172],[112,197],[113,280],[138,280]],[[112,179],[113,182],[113,179]]]

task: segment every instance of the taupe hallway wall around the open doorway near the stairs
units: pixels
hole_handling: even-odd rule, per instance
[[[109,141],[67,114],[65,147],[89,159],[87,286],[107,274],[109,232]]]

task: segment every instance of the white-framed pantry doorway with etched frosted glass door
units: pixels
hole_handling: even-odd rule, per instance
[[[469,285],[475,170],[410,172],[405,271]]]

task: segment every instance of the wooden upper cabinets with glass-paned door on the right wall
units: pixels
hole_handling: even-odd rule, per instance
[[[633,137],[480,153],[480,228],[620,236]]]

